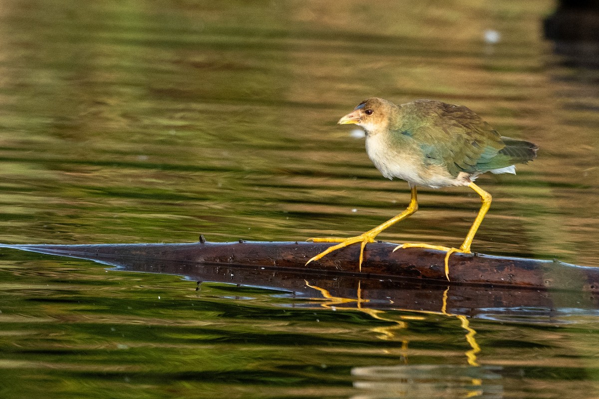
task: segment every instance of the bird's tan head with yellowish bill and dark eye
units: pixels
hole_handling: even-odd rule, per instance
[[[337,123],[354,123],[363,127],[367,132],[374,133],[387,128],[389,117],[394,108],[395,105],[392,102],[377,97],[369,98],[359,103],[352,112],[345,115]]]

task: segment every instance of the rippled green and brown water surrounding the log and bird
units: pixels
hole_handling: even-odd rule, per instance
[[[2,1],[0,242],[364,232],[409,201],[335,126],[376,95],[467,105],[540,145],[518,175],[477,181],[494,203],[475,251],[599,266],[599,74],[543,41],[552,7]],[[479,205],[465,188],[419,200],[380,238],[458,245]],[[9,250],[0,281],[3,397],[599,392],[599,319],[580,309],[375,312]]]

